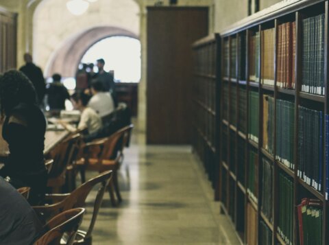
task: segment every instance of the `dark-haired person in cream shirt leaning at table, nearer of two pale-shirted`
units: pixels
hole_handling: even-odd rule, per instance
[[[80,110],[81,117],[77,128],[82,130],[84,128],[88,129],[88,134],[94,134],[95,132],[101,130],[102,122],[101,117],[97,115],[95,110],[89,108],[88,105],[89,96],[83,92],[73,93],[71,96],[71,102],[75,110]]]

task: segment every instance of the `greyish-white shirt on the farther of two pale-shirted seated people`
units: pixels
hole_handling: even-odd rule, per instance
[[[98,92],[90,98],[88,107],[93,108],[100,117],[109,115],[114,110],[112,95],[108,92]]]

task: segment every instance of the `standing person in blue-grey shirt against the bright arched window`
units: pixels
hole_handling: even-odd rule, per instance
[[[114,106],[118,106],[117,95],[115,91],[115,82],[112,73],[104,71],[105,60],[102,58],[97,60],[98,73],[94,75],[93,78],[99,80],[103,83],[105,91],[110,92],[114,100]]]

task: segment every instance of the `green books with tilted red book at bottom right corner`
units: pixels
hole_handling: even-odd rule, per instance
[[[309,198],[297,206],[300,245],[322,244],[322,207],[319,200]]]

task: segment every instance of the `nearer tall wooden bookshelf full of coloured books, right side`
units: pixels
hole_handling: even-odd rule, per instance
[[[328,16],[328,1],[286,1],[212,39],[221,71],[206,165],[219,163],[215,196],[241,244],[329,244]]]

